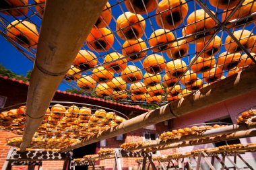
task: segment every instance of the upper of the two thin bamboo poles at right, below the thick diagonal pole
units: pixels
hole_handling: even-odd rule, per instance
[[[229,126],[224,126],[221,128],[215,128],[215,129],[210,129],[206,130],[205,132],[202,132],[200,134],[189,134],[186,136],[179,136],[177,138],[171,138],[167,140],[154,140],[149,143],[142,144],[141,146],[137,146],[131,149],[127,149],[127,151],[133,151],[137,149],[143,149],[143,148],[149,148],[149,147],[156,147],[156,146],[162,146],[166,144],[172,144],[174,142],[182,142],[185,140],[192,140],[192,139],[197,139],[197,138],[205,138],[205,137],[211,137],[211,136],[216,136],[220,134],[228,134],[228,133],[233,133],[237,131],[242,131],[242,130],[249,130],[252,128],[256,128],[256,123],[249,123],[249,124],[232,124]]]

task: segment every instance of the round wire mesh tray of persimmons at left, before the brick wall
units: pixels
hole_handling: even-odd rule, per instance
[[[24,104],[26,103],[22,103],[20,107],[15,105],[10,110],[6,108],[7,111],[0,113],[2,130],[18,135],[23,134],[26,121]],[[65,139],[88,138],[102,130],[117,126],[127,119],[127,116],[120,112],[97,105],[53,101],[34,138],[36,142],[51,138],[51,141],[61,144]]]

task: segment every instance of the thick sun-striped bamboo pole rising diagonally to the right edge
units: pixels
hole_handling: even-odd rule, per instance
[[[204,87],[203,89],[199,89],[191,95],[187,95],[177,101],[163,105],[156,110],[152,110],[127,120],[119,124],[119,126],[104,130],[98,134],[95,134],[94,136],[84,138],[80,142],[75,142],[69,147],[65,148],[63,151],[70,151],[74,148],[79,148],[106,138],[113,138],[119,134],[125,134],[127,132],[131,132],[152,124],[157,124],[177,116],[183,116],[191,112],[196,112],[203,108],[209,107],[210,105],[225,101],[226,99],[243,95],[245,93],[249,93],[250,91],[255,91],[255,72],[256,65],[245,69],[236,75],[232,75],[226,79],[218,81],[217,83]]]

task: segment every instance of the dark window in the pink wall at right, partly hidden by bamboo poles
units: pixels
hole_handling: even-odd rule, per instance
[[[218,118],[216,120],[211,120],[205,123],[212,123],[212,122],[223,122],[223,123],[230,123],[233,124],[230,116],[226,116],[224,118]],[[214,125],[214,123],[212,124]],[[220,141],[220,142],[215,142],[214,146],[218,147],[218,146],[222,146],[222,145],[229,145],[229,144],[240,144],[240,140],[239,139],[233,139],[233,140],[225,140],[225,141]]]

